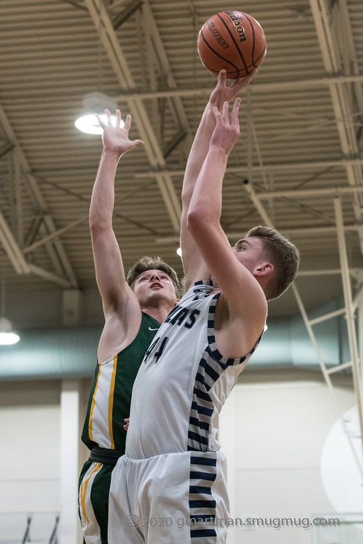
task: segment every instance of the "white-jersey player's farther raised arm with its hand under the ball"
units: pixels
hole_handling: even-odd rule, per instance
[[[243,79],[235,81],[231,86],[226,86],[225,79],[227,73],[222,70],[218,77],[216,88],[208,100],[206,108],[203,111],[199,128],[196,131],[193,145],[189,152],[189,158],[186,163],[183,188],[181,192],[182,212],[180,227],[181,255],[183,259],[184,274],[186,276],[186,288],[189,287],[193,278],[199,276],[199,279],[208,279],[208,269],[201,257],[194,239],[186,228],[186,216],[189,210],[189,203],[193,195],[194,186],[198,179],[203,162],[206,159],[208,149],[211,143],[211,136],[216,127],[216,116],[213,108],[222,111],[223,103],[230,102],[239,91],[245,89],[255,75],[255,71]]]

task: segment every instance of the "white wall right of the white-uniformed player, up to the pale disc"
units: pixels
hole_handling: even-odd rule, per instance
[[[334,512],[320,458],[337,417],[355,404],[350,387],[335,391],[339,409],[319,375],[242,373],[220,416],[220,441],[228,455],[231,518],[255,527],[232,526],[228,544],[311,544],[313,528],[302,528],[304,519]],[[276,528],[248,518],[272,519]],[[287,518],[296,526],[286,527],[290,522],[281,519]],[[345,540],[321,540],[333,541]]]

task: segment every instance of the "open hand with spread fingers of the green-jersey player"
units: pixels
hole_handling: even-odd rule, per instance
[[[107,122],[105,123],[101,117],[96,113],[96,118],[99,121],[99,125],[104,131],[102,134],[102,142],[104,142],[104,149],[108,151],[116,152],[120,155],[130,151],[138,145],[144,145],[143,140],[130,140],[128,132],[131,126],[131,115],[128,114],[125,119],[125,125],[121,128],[121,111],[116,110],[116,125],[112,125],[111,113],[109,110],[105,110]]]

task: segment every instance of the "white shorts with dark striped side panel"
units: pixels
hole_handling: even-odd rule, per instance
[[[114,467],[108,544],[224,544],[228,528],[225,455],[123,455]]]

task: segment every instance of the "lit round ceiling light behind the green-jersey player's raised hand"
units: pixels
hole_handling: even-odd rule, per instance
[[[106,123],[107,118],[106,115],[104,115],[105,109],[108,109],[110,112],[115,111],[117,103],[111,96],[94,92],[84,95],[83,106],[84,115],[81,115],[75,121],[74,125],[76,125],[78,130],[86,132],[86,134],[102,134],[102,129],[94,114],[98,113],[101,119]],[[111,115],[111,121],[113,125],[116,125],[116,117],[114,115]],[[123,127],[124,124],[125,123],[121,121],[121,127]]]

